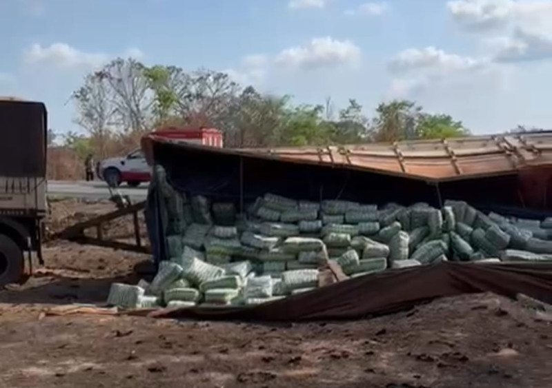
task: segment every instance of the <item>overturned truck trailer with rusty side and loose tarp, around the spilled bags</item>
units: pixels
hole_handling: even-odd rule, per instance
[[[271,198],[310,204],[328,200],[371,204],[359,205],[353,212],[368,211],[366,206],[383,208],[388,203],[409,206],[422,202],[441,208],[446,200],[466,201],[478,211],[533,218],[540,223],[550,215],[546,166],[552,163],[551,139],[548,134],[477,136],[393,145],[228,150],[150,135],[142,145],[149,163],[161,167],[157,171],[163,172],[162,179],[176,192],[187,198],[232,204],[237,214],[250,212],[251,203],[271,193]],[[535,174],[542,177],[537,179],[542,190],[538,195],[528,178]],[[157,263],[174,256],[162,179],[154,177],[146,206]],[[336,281],[343,279],[339,268],[328,265],[326,270],[333,273],[333,282],[328,283],[337,284],[315,292],[294,292],[257,307],[195,307],[163,314],[267,320],[362,318],[438,296],[484,291],[508,296],[523,293],[551,301],[552,264],[546,261],[484,266],[446,262],[392,269],[346,282]],[[366,298],[359,300],[359,295]]]

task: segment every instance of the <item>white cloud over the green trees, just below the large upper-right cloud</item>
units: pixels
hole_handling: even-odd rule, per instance
[[[483,65],[486,61],[472,57],[448,54],[443,50],[428,46],[426,48],[409,48],[391,59],[388,68],[401,73],[411,70],[438,70],[440,72],[457,72],[471,70]]]

